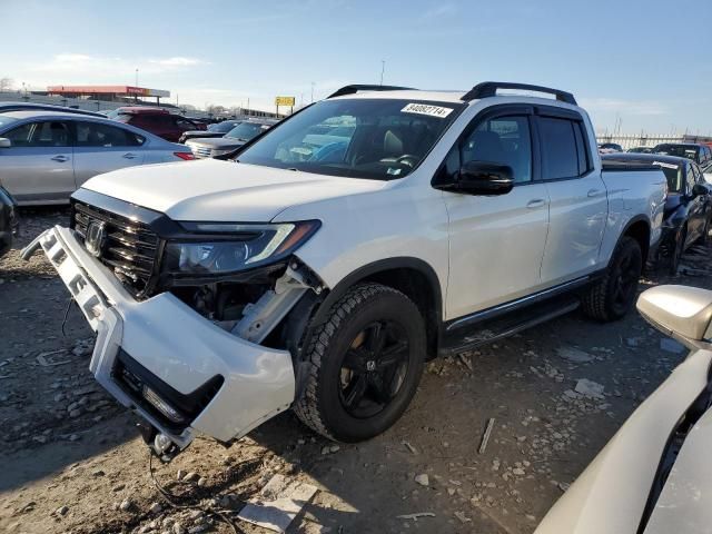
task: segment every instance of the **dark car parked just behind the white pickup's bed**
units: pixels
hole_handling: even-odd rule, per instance
[[[676,274],[682,254],[693,244],[706,241],[710,233],[712,198],[700,167],[691,159],[662,154],[611,154],[603,156],[603,162],[607,167],[623,164],[662,169],[668,197],[657,259],[670,274]]]

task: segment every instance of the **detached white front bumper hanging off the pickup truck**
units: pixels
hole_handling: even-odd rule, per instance
[[[22,257],[40,248],[97,333],[89,369],[122,405],[179,448],[192,441],[196,431],[222,442],[240,437],[291,405],[295,375],[289,352],[236,337],[169,293],[136,300],[68,228],[46,230],[22,250]],[[120,353],[181,395],[216,376],[222,377],[221,386],[187,426],[176,429],[117,380]]]

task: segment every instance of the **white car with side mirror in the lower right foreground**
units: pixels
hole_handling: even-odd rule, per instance
[[[534,534],[710,532],[712,291],[657,286],[641,294],[637,310],[690,354],[633,412]]]

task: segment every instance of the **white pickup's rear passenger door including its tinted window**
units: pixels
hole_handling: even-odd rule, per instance
[[[535,119],[551,201],[542,281],[552,286],[595,269],[609,202],[581,115],[540,107]]]

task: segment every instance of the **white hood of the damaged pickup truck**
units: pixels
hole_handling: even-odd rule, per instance
[[[267,222],[290,206],[377,191],[387,185],[205,159],[127,167],[96,176],[82,188],[174,220]]]

